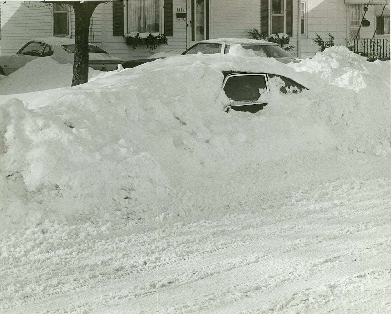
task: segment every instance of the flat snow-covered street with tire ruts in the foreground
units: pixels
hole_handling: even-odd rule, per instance
[[[307,158],[307,172],[292,173],[296,191],[267,199],[256,184],[251,192],[264,197],[213,220],[202,212],[165,226],[54,224],[10,234],[5,312],[387,313],[391,180],[379,169],[388,162],[354,161],[341,154],[338,178],[325,162],[307,181],[319,169]]]

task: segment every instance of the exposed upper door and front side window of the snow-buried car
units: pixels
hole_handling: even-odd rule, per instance
[[[230,105],[226,108],[228,110],[256,113],[267,105],[267,102],[260,100],[261,93],[269,93],[266,74],[228,74],[222,89],[230,99]]]

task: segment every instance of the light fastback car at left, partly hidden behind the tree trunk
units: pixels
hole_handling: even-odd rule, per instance
[[[60,64],[74,63],[75,40],[71,38],[37,38],[27,42],[13,55],[0,56],[0,74],[9,75],[39,57],[50,57]],[[116,70],[124,60],[102,48],[88,44],[88,66],[94,70]]]

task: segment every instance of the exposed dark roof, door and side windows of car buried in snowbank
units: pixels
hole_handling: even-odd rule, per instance
[[[279,74],[260,72],[222,72],[224,80],[222,89],[230,99],[230,104],[224,107],[225,111],[237,110],[256,113],[262,110],[267,103],[260,101],[261,92],[269,93],[270,79],[280,79],[283,85],[280,87],[282,93],[299,93],[308,88],[292,79]]]

